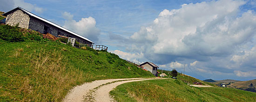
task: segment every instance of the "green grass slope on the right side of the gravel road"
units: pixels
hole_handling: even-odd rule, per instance
[[[189,86],[177,79],[130,82],[110,91],[118,102],[255,102],[256,93],[237,89]]]

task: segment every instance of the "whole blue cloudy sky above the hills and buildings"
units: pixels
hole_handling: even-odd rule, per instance
[[[256,79],[256,0],[1,0],[122,59],[204,79]]]

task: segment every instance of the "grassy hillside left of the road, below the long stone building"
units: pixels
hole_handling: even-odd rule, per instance
[[[0,24],[0,102],[61,101],[99,79],[155,77],[116,54],[73,48],[33,30]]]

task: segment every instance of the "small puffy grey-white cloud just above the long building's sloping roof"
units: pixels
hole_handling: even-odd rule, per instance
[[[81,18],[78,22],[76,22],[70,12],[63,12],[63,18],[65,18],[64,28],[68,30],[74,31],[75,33],[84,36],[91,40],[92,42],[97,42],[99,40],[100,32],[98,28],[96,28],[96,21],[92,17]]]

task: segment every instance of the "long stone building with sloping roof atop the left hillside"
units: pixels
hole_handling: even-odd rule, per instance
[[[2,15],[6,16],[5,24],[9,24],[12,26],[19,24],[20,28],[27,28],[39,31],[43,34],[50,33],[56,37],[59,37],[59,35],[73,37],[76,39],[77,42],[88,45],[94,44],[94,42],[90,41],[89,39],[78,35],[70,30],[67,30],[60,25],[54,24],[44,18],[41,18],[31,12],[28,12],[21,7],[14,8],[13,10],[6,12]]]

